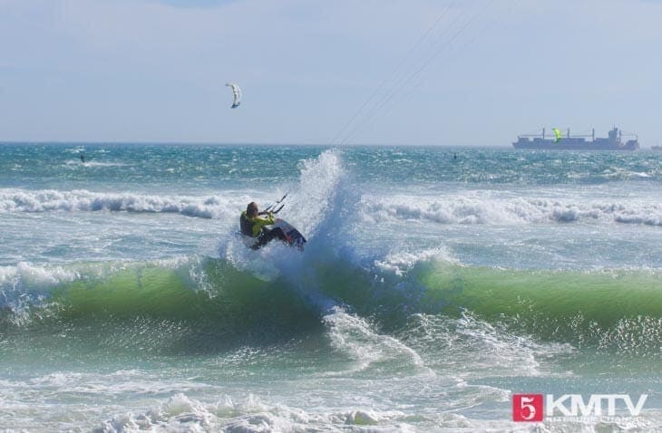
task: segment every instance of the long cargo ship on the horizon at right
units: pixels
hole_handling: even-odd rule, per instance
[[[545,150],[637,150],[639,149],[638,136],[627,134],[626,137],[634,137],[623,142],[623,132],[614,127],[608,132],[608,138],[596,138],[595,130],[591,135],[570,135],[570,129],[564,135],[560,130],[554,128],[554,134],[547,138],[545,129],[542,134],[519,135],[517,141],[512,143],[515,149],[545,149]],[[590,140],[587,140],[589,139]]]

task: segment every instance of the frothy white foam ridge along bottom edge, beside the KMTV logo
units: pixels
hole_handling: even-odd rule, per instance
[[[510,394],[507,400],[510,399]],[[660,414],[649,411],[638,419],[567,419],[535,424],[513,423],[508,410],[498,419],[470,419],[453,411],[433,416],[407,416],[399,410],[349,409],[314,411],[285,404],[268,404],[253,394],[235,400],[221,396],[215,403],[177,393],[154,409],[142,413],[127,411],[102,423],[94,431],[204,432],[227,431],[263,433],[272,431],[659,431]]]

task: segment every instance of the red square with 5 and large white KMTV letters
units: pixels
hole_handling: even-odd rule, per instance
[[[617,408],[628,409],[631,417],[638,417],[647,398],[647,394],[640,395],[635,405],[627,394],[591,394],[588,402],[581,394],[563,394],[557,399],[553,394],[513,394],[512,420],[539,422],[545,416],[616,417]]]

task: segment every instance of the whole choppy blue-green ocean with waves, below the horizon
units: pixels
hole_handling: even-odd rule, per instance
[[[0,430],[662,431],[661,187],[649,151],[0,144]],[[286,194],[306,249],[247,249]]]

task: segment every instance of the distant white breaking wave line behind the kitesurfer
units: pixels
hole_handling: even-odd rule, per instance
[[[327,157],[329,158],[329,157]],[[333,168],[338,169],[338,168]],[[337,173],[329,173],[336,179]],[[312,179],[311,179],[312,180]],[[320,186],[311,181],[309,186]],[[322,183],[323,187],[326,187]],[[310,189],[310,188],[308,188]],[[311,216],[317,203],[327,203],[327,197],[316,197],[322,191],[307,191],[289,201],[289,209],[297,209],[303,228],[315,226]],[[0,190],[2,212],[136,212],[174,213],[184,216],[221,219],[234,217],[235,209],[245,205],[247,197],[209,195],[160,196],[134,193],[102,193],[85,189],[59,190]],[[551,198],[493,198],[463,197],[360,197],[362,217],[369,222],[388,219],[429,221],[436,224],[545,224],[572,222],[611,222],[662,226],[662,205],[644,201],[598,201]],[[307,209],[307,212],[304,212]],[[308,219],[307,221],[304,221]],[[303,229],[302,228],[302,229]]]

